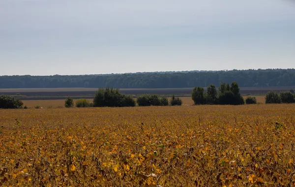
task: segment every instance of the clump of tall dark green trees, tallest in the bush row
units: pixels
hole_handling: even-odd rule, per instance
[[[239,93],[239,87],[236,82],[233,82],[231,86],[226,83],[221,83],[218,92],[214,85],[207,87],[207,93],[204,93],[204,88],[196,87],[193,89],[192,99],[195,104],[245,104],[243,97]]]

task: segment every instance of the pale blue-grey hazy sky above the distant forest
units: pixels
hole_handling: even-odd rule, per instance
[[[295,0],[0,0],[0,75],[295,68]]]

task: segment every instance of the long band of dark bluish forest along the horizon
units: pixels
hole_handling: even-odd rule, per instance
[[[234,81],[239,87],[295,86],[295,69],[0,76],[0,88],[192,88]]]

